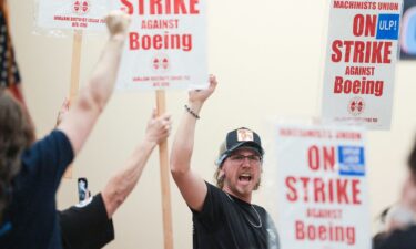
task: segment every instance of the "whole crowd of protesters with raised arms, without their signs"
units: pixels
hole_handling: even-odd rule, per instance
[[[112,217],[136,186],[154,147],[170,135],[170,115],[153,112],[124,167],[84,205],[57,210],[55,195],[113,92],[129,23],[123,12],[108,15],[110,37],[92,76],[73,103],[63,104],[57,127],[43,138],[35,139],[28,110],[0,89],[0,248],[95,249],[114,239]],[[256,132],[240,127],[225,135],[215,186],[191,167],[196,121],[216,85],[211,75],[207,89],[189,92],[171,152],[172,177],[192,212],[193,248],[278,249],[272,217],[252,203],[264,156]],[[416,248],[416,145],[408,165],[402,198],[386,211],[386,228],[374,237],[375,249]]]

